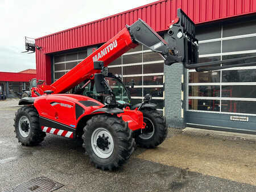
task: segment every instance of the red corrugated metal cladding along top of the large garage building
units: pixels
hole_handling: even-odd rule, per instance
[[[179,8],[198,24],[256,12],[256,1],[162,0],[40,37],[36,39],[36,45],[42,47],[39,51],[36,50],[38,78],[51,84],[51,59],[47,53],[104,43],[125,27],[125,24],[132,24],[138,18],[146,21],[155,31],[167,30],[167,25],[176,18]]]

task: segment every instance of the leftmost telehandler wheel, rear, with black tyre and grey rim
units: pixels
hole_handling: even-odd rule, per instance
[[[19,143],[25,146],[37,145],[46,136],[39,125],[38,111],[34,106],[23,106],[18,109],[14,118],[14,128]]]

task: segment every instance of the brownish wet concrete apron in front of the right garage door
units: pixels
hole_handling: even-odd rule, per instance
[[[171,132],[171,137],[138,158],[256,185],[256,144]]]

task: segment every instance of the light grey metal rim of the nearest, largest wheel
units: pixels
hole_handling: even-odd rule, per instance
[[[114,151],[114,140],[105,128],[97,128],[93,131],[91,144],[94,153],[100,158],[108,158]]]

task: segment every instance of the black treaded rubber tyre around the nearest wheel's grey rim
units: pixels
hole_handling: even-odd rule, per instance
[[[93,134],[99,128],[107,130],[113,139],[113,152],[107,158],[98,156],[94,151],[95,149],[93,150]],[[96,168],[114,170],[123,165],[134,151],[134,139],[131,133],[132,131],[128,128],[127,123],[123,122],[122,118],[106,114],[96,115],[89,119],[84,127],[84,134],[82,135],[84,144],[82,146],[85,148],[86,153]],[[94,146],[96,148],[96,145]],[[97,146],[99,146],[98,143]]]

